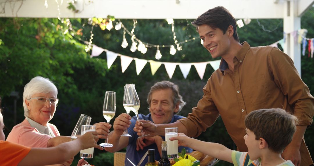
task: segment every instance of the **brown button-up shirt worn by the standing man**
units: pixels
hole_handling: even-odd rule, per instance
[[[203,98],[187,118],[179,121],[188,136],[196,137],[221,116],[225,127],[241,152],[246,152],[244,118],[261,108],[283,108],[309,126],[314,114],[314,98],[301,80],[291,58],[276,47],[250,47],[242,43],[233,58],[234,70],[221,59],[220,67],[203,88]],[[307,147],[301,144],[301,165],[312,160]]]

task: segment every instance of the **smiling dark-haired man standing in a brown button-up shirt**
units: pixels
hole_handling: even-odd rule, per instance
[[[164,135],[165,127],[178,127],[179,132],[197,137],[220,115],[238,151],[247,152],[243,139],[245,116],[261,108],[283,108],[294,114],[299,124],[282,157],[295,166],[313,164],[303,135],[313,122],[314,97],[291,58],[276,47],[250,47],[247,42],[240,43],[236,20],[221,6],[209,9],[192,24],[211,56],[221,57],[219,69],[208,79],[203,98],[187,118],[172,124],[142,120],[134,130],[143,128],[145,133],[155,136]]]

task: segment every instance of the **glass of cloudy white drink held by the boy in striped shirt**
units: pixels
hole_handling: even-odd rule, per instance
[[[178,140],[170,141],[169,138],[178,136],[178,128],[165,128],[165,140],[167,141],[168,158],[178,158]]]

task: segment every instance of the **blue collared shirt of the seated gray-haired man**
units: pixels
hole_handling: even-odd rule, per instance
[[[151,114],[143,115],[143,114],[138,114],[139,119],[144,119],[144,120],[149,120],[153,122]],[[170,123],[174,123],[179,119],[184,118],[183,116],[180,115],[174,115],[170,121]],[[129,144],[127,146],[127,154],[125,156],[125,166],[132,166],[132,164],[127,161],[127,158],[130,159],[134,164],[138,164],[138,162],[141,160],[141,158],[144,156],[144,154],[148,151],[148,149],[155,149],[155,160],[159,161],[160,160],[160,155],[158,152],[158,148],[156,144],[149,145],[147,147],[144,147],[143,150],[136,150],[136,140],[138,138],[137,133],[133,130],[135,127],[135,122],[136,122],[136,116],[133,116],[131,119],[131,125],[127,129],[128,134],[130,134],[132,137],[129,137]],[[165,140],[165,136],[161,136],[163,140]],[[192,149],[189,147],[179,147],[179,152],[181,152],[182,148],[185,148],[187,153],[191,153]],[[144,166],[148,161],[148,158],[146,157],[144,161],[142,162],[141,166]]]

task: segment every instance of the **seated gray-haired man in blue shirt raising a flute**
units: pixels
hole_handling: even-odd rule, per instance
[[[139,119],[149,120],[155,124],[173,123],[183,116],[176,115],[185,105],[182,96],[179,93],[179,87],[170,81],[161,81],[155,83],[148,93],[147,102],[149,104],[149,114],[139,114]],[[113,147],[105,148],[108,152],[117,152],[127,147],[126,159],[138,163],[148,149],[155,149],[155,160],[160,160],[161,141],[165,140],[164,136],[142,137],[138,138],[136,132],[133,131],[136,117],[129,116],[126,113],[120,114],[113,123],[113,131],[108,136],[108,142]],[[132,137],[121,136],[127,129],[128,134]],[[183,147],[179,147],[179,152]],[[188,153],[192,152],[191,148],[185,147]],[[141,166],[147,163],[147,158],[142,162]],[[125,160],[125,165],[131,165]]]

